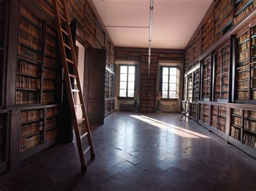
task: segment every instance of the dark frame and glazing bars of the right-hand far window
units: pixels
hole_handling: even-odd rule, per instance
[[[168,69],[168,90],[167,90],[167,98],[163,98],[163,68],[169,68]],[[179,90],[178,94],[179,97],[177,98],[169,98],[169,92],[170,92],[170,68],[177,68],[179,70]],[[177,76],[177,74],[176,74]],[[176,82],[176,88],[177,88],[177,82]],[[178,66],[160,66],[160,76],[159,76],[159,91],[161,93],[161,100],[163,101],[177,101],[180,98],[180,67]],[[176,90],[177,93],[177,90]]]

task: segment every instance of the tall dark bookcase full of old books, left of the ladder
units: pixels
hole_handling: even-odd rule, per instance
[[[56,31],[40,13],[19,6],[17,77],[12,112],[11,153],[14,161],[24,160],[59,140],[62,128],[62,67]],[[54,25],[53,25],[54,26]],[[9,105],[8,105],[9,106]],[[17,119],[17,120],[16,120]]]

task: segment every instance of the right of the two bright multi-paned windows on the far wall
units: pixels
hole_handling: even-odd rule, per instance
[[[160,69],[160,92],[162,98],[179,98],[179,69],[166,66],[162,66]]]

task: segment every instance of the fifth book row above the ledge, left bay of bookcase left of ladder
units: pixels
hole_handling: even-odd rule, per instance
[[[19,42],[41,51],[41,41],[25,31],[19,30]]]

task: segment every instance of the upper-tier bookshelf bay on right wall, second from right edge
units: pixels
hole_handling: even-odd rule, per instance
[[[232,27],[233,2],[232,0],[219,0],[215,6],[214,42],[223,37]]]

